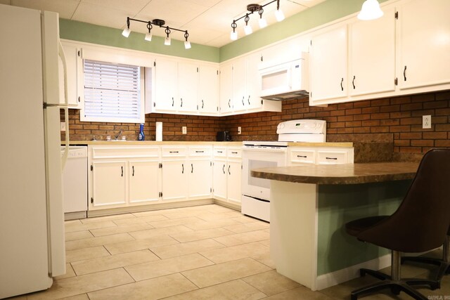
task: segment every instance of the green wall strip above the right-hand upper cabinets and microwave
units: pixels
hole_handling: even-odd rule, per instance
[[[387,0],[379,0],[380,3]],[[220,48],[220,61],[248,53],[361,10],[364,0],[328,0]],[[281,10],[283,2],[280,4]],[[253,17],[253,16],[252,16]],[[231,32],[230,20],[230,32]],[[239,20],[238,27],[244,26]]]

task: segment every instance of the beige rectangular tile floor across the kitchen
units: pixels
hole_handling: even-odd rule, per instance
[[[65,229],[67,273],[50,289],[15,299],[349,299],[374,281],[311,292],[274,270],[268,223],[215,204],[67,221]],[[403,268],[409,277],[429,273]],[[441,289],[420,292],[450,300],[450,276]]]

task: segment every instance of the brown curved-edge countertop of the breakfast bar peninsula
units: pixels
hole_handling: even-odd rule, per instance
[[[252,170],[252,176],[314,184],[357,184],[412,179],[418,162],[377,162],[365,164],[303,164]]]

